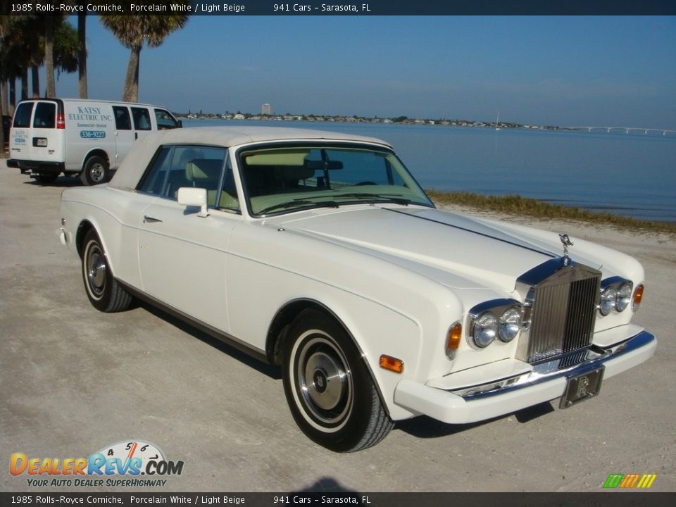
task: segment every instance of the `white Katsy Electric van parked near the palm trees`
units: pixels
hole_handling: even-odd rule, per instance
[[[8,167],[39,182],[61,173],[84,184],[102,183],[139,137],[180,127],[165,108],[149,104],[83,99],[21,101],[10,131]]]

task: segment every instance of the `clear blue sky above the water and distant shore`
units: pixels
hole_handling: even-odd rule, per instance
[[[89,98],[121,99],[129,50],[96,16],[87,49]],[[675,62],[669,16],[197,15],[142,50],[139,101],[676,130]],[[56,92],[76,97],[77,73]]]

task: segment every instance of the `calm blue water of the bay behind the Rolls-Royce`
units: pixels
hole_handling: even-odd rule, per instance
[[[676,222],[676,136],[496,131],[382,123],[184,120],[184,126],[316,128],[384,139],[420,184],[442,192],[519,194],[643,220]]]

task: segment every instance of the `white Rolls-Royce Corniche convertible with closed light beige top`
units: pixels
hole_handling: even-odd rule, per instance
[[[109,184],[66,189],[61,217],[94,307],[138,297],[281,365],[296,423],[334,451],[422,414],[572,406],[656,348],[631,323],[637,261],[439,211],[379,139],[157,132]]]

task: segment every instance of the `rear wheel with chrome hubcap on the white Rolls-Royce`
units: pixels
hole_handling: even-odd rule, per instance
[[[132,296],[113,278],[101,239],[93,229],[84,237],[82,280],[89,302],[97,310],[123,311],[132,302]]]

